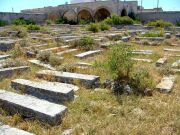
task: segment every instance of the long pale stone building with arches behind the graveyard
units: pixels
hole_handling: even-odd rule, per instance
[[[23,13],[45,13],[48,17],[64,17],[72,21],[101,21],[112,14],[127,16],[130,12],[137,13],[137,1],[94,1],[75,4],[65,4],[56,7],[44,7],[22,10]]]

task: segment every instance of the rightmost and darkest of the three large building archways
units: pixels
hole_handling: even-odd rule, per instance
[[[109,10],[107,10],[106,8],[101,8],[95,12],[94,18],[96,21],[102,21],[109,16],[111,16],[111,13],[109,12]]]

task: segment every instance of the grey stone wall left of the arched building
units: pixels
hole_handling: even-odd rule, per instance
[[[46,14],[28,14],[28,13],[9,13],[9,12],[0,12],[0,20],[8,21],[9,23],[12,22],[14,19],[18,19],[23,17],[24,19],[32,19],[38,24],[44,23],[47,19]]]

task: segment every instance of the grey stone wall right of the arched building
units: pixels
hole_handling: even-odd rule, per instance
[[[148,22],[151,20],[165,20],[176,24],[180,22],[180,11],[167,11],[167,12],[143,12],[137,14],[140,20]]]

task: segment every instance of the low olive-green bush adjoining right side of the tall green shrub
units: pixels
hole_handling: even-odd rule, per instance
[[[154,88],[154,81],[147,69],[136,70],[131,77],[131,86],[137,92],[144,93],[146,88]]]

